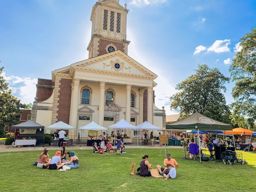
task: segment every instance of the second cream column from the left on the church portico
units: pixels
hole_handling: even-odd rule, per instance
[[[105,106],[105,83],[99,82],[99,119],[98,124],[103,126],[104,123],[104,106]]]

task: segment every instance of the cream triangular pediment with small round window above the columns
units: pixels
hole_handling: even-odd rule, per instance
[[[123,73],[127,76],[143,76],[152,80],[157,78],[156,74],[120,50],[80,61],[72,64],[71,68],[71,76],[76,70],[95,70],[102,73],[111,73],[111,75]]]

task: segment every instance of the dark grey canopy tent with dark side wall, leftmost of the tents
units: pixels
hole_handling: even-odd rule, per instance
[[[36,139],[36,144],[44,145],[44,125],[29,120],[17,125],[12,125],[12,128],[20,129],[20,139],[23,137],[31,137]]]

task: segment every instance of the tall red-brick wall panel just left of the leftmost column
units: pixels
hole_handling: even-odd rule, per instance
[[[60,95],[58,105],[58,121],[69,124],[70,103],[71,103],[71,83],[72,79],[61,79]]]

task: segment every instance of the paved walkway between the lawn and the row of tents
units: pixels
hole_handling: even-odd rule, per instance
[[[6,152],[6,151],[41,151],[44,150],[44,148],[48,148],[49,150],[60,150],[61,148],[58,148],[58,146],[52,146],[52,145],[36,145],[33,147],[13,147],[12,145],[4,145],[4,141],[0,141],[0,152]],[[164,146],[159,146],[158,144],[155,144],[153,147],[151,145],[137,145],[137,143],[133,144],[126,144],[125,148],[163,148]],[[166,146],[166,148],[181,148],[180,146]],[[66,146],[66,151],[71,151],[75,149],[93,149],[93,147],[86,146],[86,145],[77,145],[74,144],[73,146]]]

